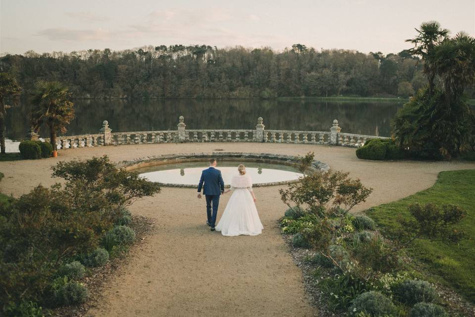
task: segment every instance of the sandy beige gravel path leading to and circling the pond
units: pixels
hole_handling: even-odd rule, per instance
[[[354,149],[294,144],[206,143],[153,144],[72,149],[61,160],[107,154],[114,161],[170,153],[212,152],[304,155],[334,170],[349,171],[374,188],[368,207],[394,201],[430,187],[443,170],[475,168],[466,162],[376,162],[356,159]],[[49,167],[58,159],[0,162],[5,178],[0,191],[19,196],[34,186],[49,186]],[[218,162],[219,168],[219,162]],[[264,231],[256,237],[223,237],[209,232],[204,200],[194,189],[163,188],[162,193],[136,202],[131,211],[156,219],[156,228],[136,248],[88,316],[315,316],[304,291],[301,271],[292,263],[276,220],[285,205],[279,187],[255,189]],[[229,199],[220,202],[218,217]]]

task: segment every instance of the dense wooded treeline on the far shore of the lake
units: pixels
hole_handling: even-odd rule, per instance
[[[384,56],[300,44],[282,52],[175,45],[0,58],[0,70],[26,91],[38,79],[59,80],[73,98],[407,97],[426,84],[422,66],[407,51]]]

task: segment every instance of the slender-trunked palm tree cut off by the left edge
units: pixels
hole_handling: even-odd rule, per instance
[[[7,73],[0,73],[0,152],[5,154],[5,116],[6,109],[10,106],[18,106],[21,95],[21,87],[15,78]],[[7,105],[11,101],[12,105]]]

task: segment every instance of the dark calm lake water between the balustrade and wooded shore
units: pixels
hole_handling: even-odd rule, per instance
[[[266,129],[329,131],[338,119],[342,132],[390,136],[390,123],[403,102],[326,102],[312,100],[75,100],[76,118],[66,135],[98,133],[103,120],[112,132],[177,129],[185,116],[188,129],[253,129],[262,116]],[[11,108],[6,137],[28,132],[31,106]],[[46,129],[40,135],[49,137]]]

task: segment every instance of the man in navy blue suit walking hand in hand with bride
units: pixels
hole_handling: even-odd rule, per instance
[[[224,194],[224,181],[221,171],[216,169],[216,159],[210,159],[209,168],[201,172],[201,178],[198,183],[198,198],[201,198],[201,187],[203,187],[203,194],[206,197],[206,215],[208,216],[206,224],[211,227],[211,231],[214,231],[216,215],[218,214],[219,196]],[[212,215],[211,208],[213,209]]]

